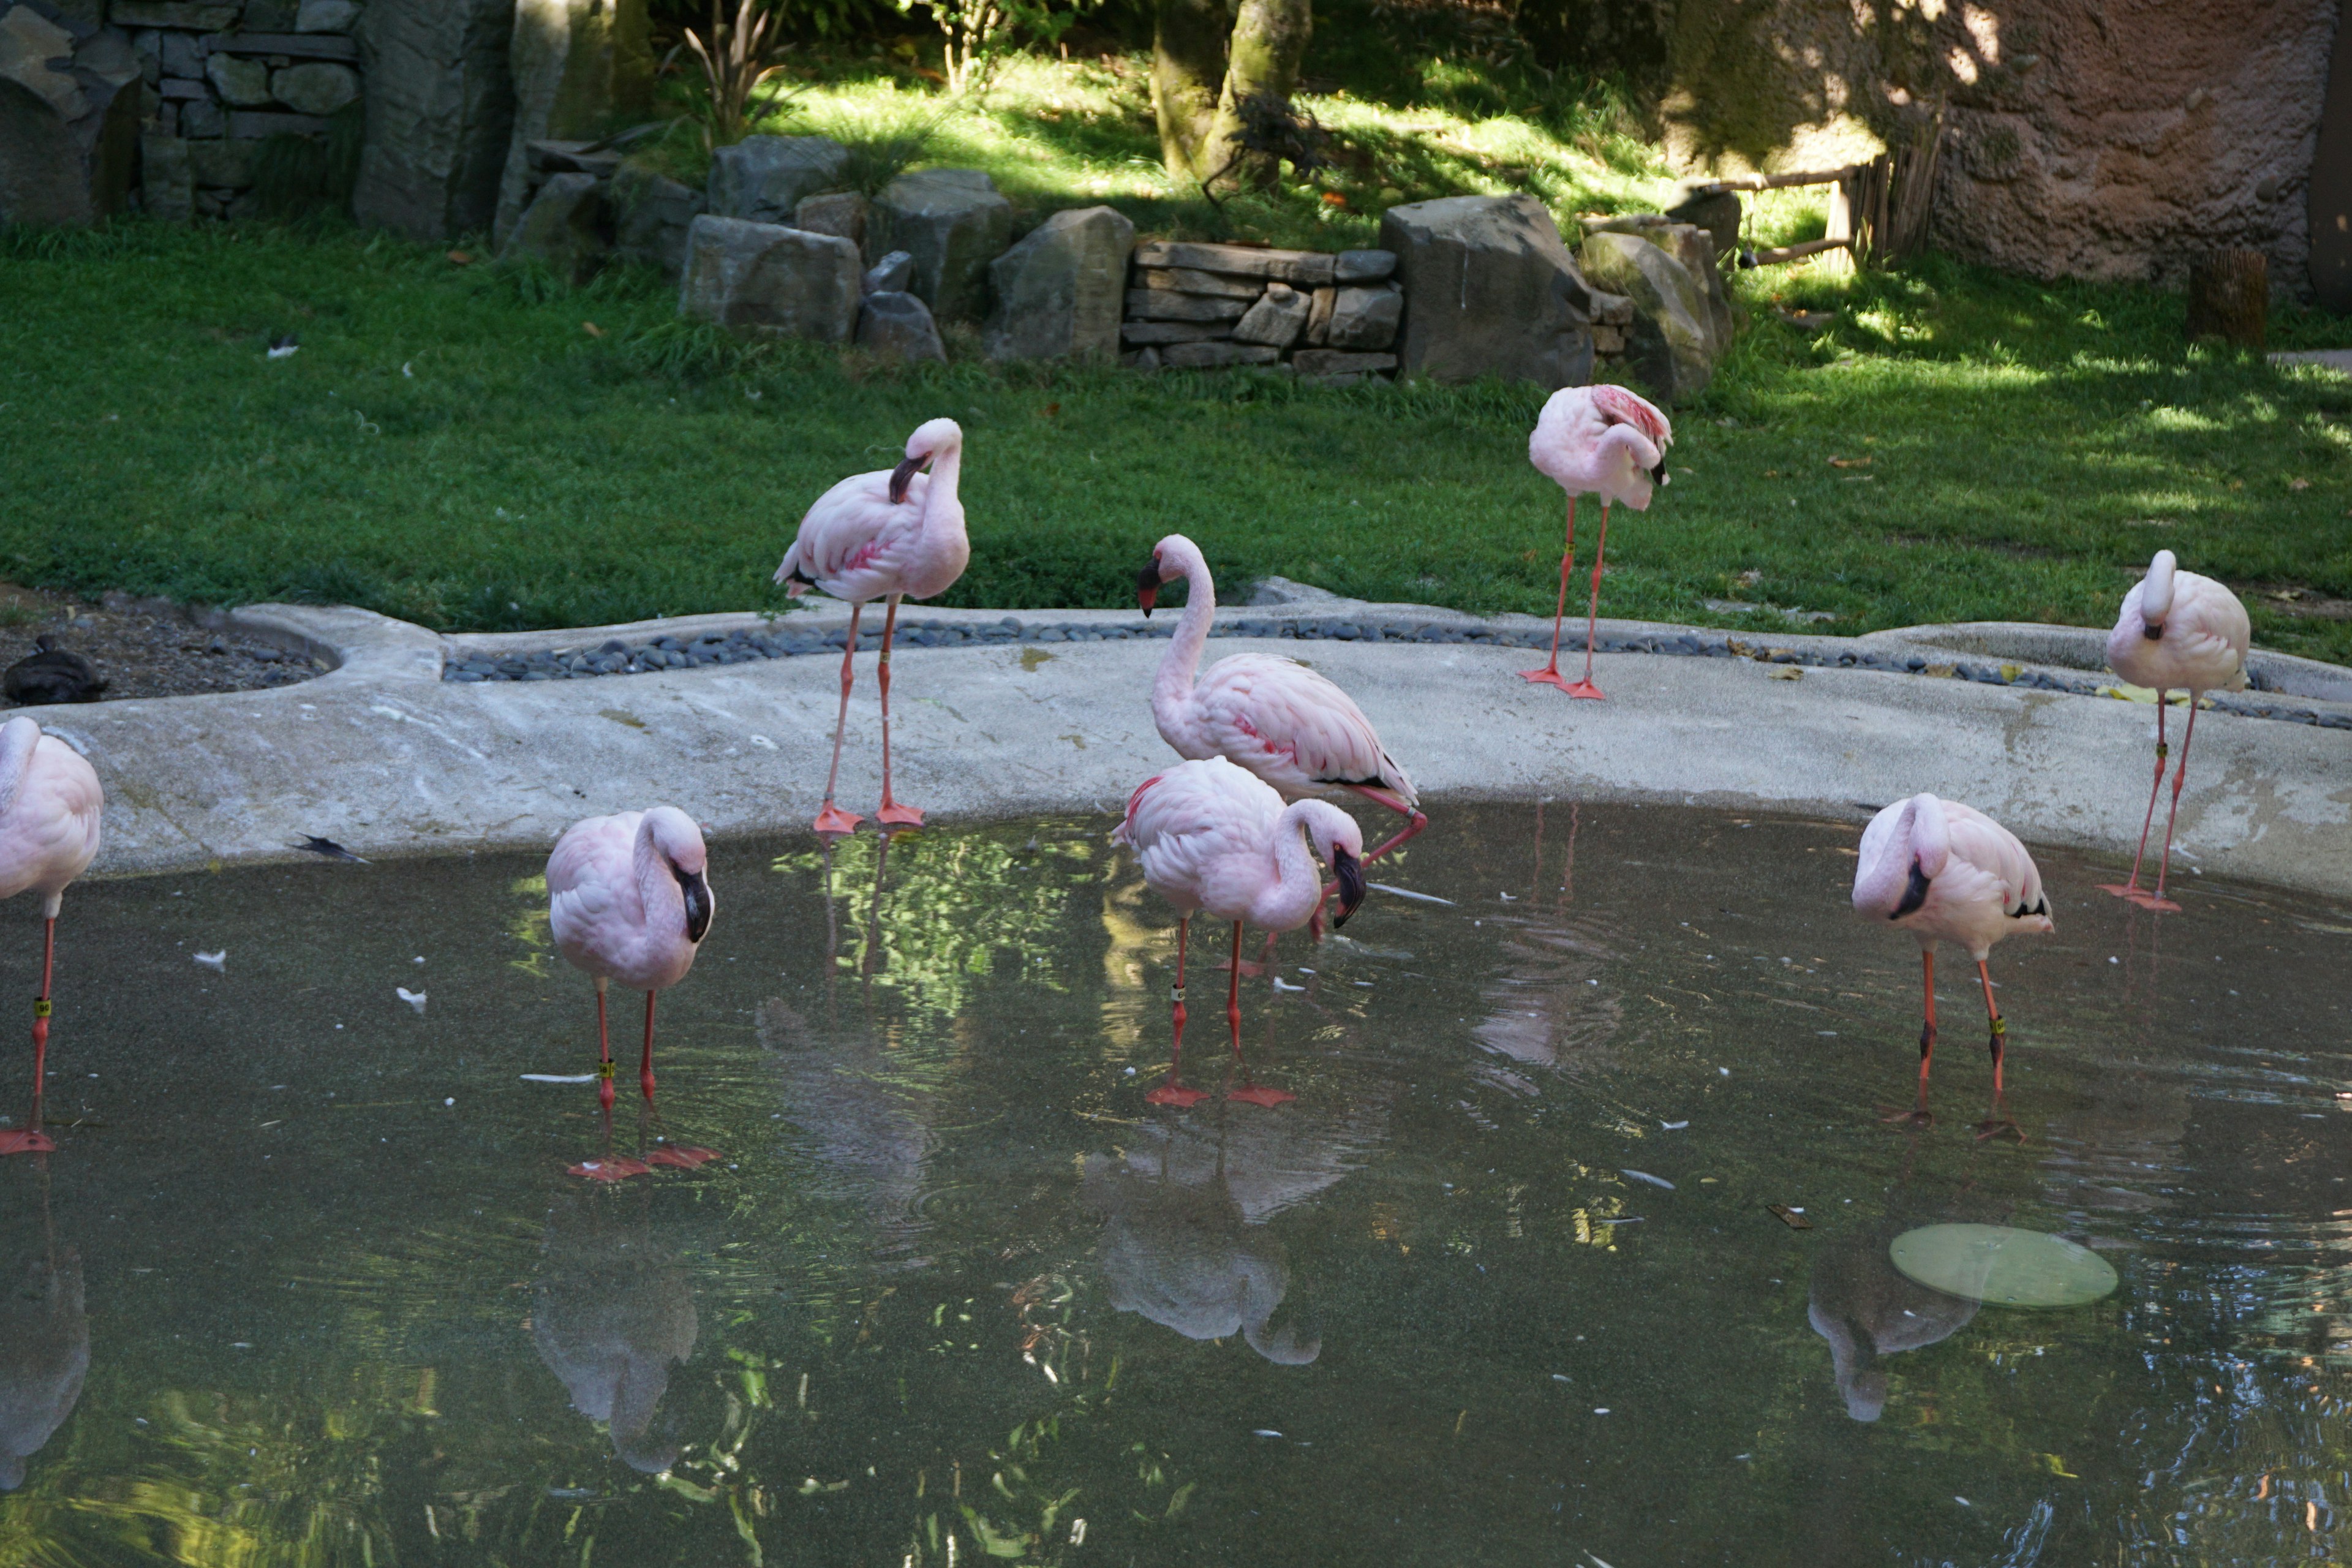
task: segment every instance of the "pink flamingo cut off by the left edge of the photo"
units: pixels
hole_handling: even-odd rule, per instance
[[[56,1145],[40,1131],[40,1098],[49,1081],[49,978],[56,969],[56,912],[66,884],[99,853],[99,813],[106,792],[82,755],[33,719],[0,724],[0,898],[40,893],[40,997],[33,999],[33,1126],[0,1133],[0,1154],[45,1154]]]

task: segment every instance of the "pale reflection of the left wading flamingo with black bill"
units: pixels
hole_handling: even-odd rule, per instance
[[[659,1474],[677,1462],[677,1443],[656,1434],[656,1408],[670,1368],[694,1354],[699,1321],[694,1288],[654,1234],[649,1204],[652,1192],[557,1199],[541,1244],[532,1342],[572,1408],[609,1429],[621,1462]]]

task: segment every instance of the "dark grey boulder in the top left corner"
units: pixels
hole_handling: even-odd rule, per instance
[[[0,0],[0,223],[89,223],[120,212],[139,150],[139,59],[122,33]]]

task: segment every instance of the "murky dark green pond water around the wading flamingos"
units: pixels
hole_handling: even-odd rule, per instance
[[[720,1159],[614,1187],[564,1175],[593,1086],[524,1079],[595,1053],[536,858],[78,889],[59,1152],[0,1161],[0,1561],[2338,1554],[2345,907],[2185,877],[2157,919],[2042,853],[2058,933],[1994,954],[2023,1143],[1978,1140],[1962,961],[1936,1121],[1882,1119],[1917,950],[1849,912],[1853,825],[1446,809],[1374,877],[1454,903],[1244,985],[1298,1098],[1164,1110],[1174,929],[1108,827],[720,849],[663,1128],[628,1067],[612,1128]],[[1940,1222],[2122,1284],[1936,1295],[1889,1241]]]

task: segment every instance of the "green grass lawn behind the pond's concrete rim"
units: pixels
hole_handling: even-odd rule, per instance
[[[1087,71],[1063,73],[1073,94]],[[844,87],[828,113],[882,94]],[[1108,155],[1073,158],[1040,174],[1037,200],[1124,179]],[[1809,223],[1778,202],[1757,230]],[[1738,287],[1755,327],[1677,411],[1672,487],[1611,531],[1613,614],[1748,623],[1710,614],[1717,597],[1832,611],[1837,632],[2103,625],[2129,571],[2169,545],[2239,585],[2263,644],[2352,663],[2352,623],[2265,597],[2352,599],[2352,383],[2187,348],[2180,301],[2143,289],[1938,259]],[[1766,289],[1835,306],[1839,324],[1804,336]],[[301,353],[266,360],[278,331]],[[2281,310],[2274,339],[2352,334]],[[16,233],[0,235],[0,571],[346,599],[440,628],[781,607],[767,578],[809,501],[950,414],[969,433],[974,531],[953,604],[1124,604],[1148,545],[1181,529],[1235,588],[1284,574],[1550,611],[1559,494],[1524,444],[1541,402],[1505,386],[880,369],[736,346],[677,322],[673,294],[633,273],[574,294],[332,228]]]

